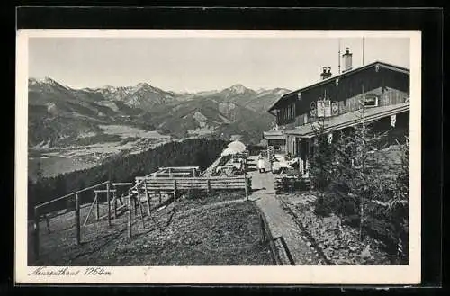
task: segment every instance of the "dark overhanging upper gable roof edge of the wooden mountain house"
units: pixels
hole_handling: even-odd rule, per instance
[[[303,87],[301,89],[298,89],[298,90],[293,91],[293,92],[288,93],[288,94],[284,94],[280,99],[278,99],[275,103],[272,104],[272,106],[269,108],[268,112],[271,112],[272,110],[275,110],[276,107],[278,106],[278,104],[283,103],[288,97],[292,97],[293,94],[296,95],[298,93],[305,92],[305,91],[307,91],[307,90],[309,90],[311,88],[314,88],[314,87],[319,87],[321,85],[327,85],[330,82],[335,81],[335,79],[337,79],[337,78],[353,76],[353,75],[355,75],[357,73],[360,73],[362,71],[365,71],[365,70],[367,70],[367,69],[369,69],[371,67],[375,67],[376,65],[379,65],[380,67],[383,67],[383,68],[386,68],[386,69],[389,69],[389,70],[392,70],[392,71],[401,72],[401,73],[410,75],[410,69],[409,68],[399,67],[399,66],[395,66],[395,65],[392,65],[392,64],[384,63],[384,62],[381,62],[381,61],[374,61],[373,63],[367,64],[367,65],[365,65],[363,67],[356,67],[353,70],[341,73],[341,74],[339,74],[337,76],[331,76],[331,77],[329,77],[329,78],[327,78],[325,80],[320,80],[319,82],[317,82],[315,84]]]

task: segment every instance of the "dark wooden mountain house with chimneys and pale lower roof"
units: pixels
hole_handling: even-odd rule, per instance
[[[268,110],[283,130],[285,152],[300,158],[303,175],[308,175],[313,153],[311,123],[319,119],[332,137],[333,132],[357,124],[364,103],[365,121],[376,131],[388,131],[392,141],[409,133],[410,70],[380,61],[354,69],[348,49],[343,58],[342,74],[332,76],[331,69],[323,67],[318,83],[284,94]]]

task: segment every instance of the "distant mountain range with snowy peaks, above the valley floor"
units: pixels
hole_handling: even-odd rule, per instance
[[[266,112],[284,88],[252,90],[231,85],[195,94],[148,83],[74,89],[45,77],[28,80],[29,146],[67,146],[82,135],[98,137],[104,125],[157,130],[173,138],[241,135],[257,143],[273,125]]]

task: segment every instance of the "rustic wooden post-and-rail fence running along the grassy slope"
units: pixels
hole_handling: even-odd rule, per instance
[[[51,209],[55,208],[55,202],[67,202],[70,203],[75,198],[75,242],[76,245],[81,244],[82,235],[81,227],[85,226],[91,216],[91,213],[95,213],[95,220],[106,219],[108,221],[108,226],[112,226],[112,219],[116,219],[119,216],[119,211],[128,211],[128,235],[131,238],[131,225],[132,225],[132,211],[134,208],[135,216],[140,217],[142,220],[142,226],[145,229],[144,223],[144,211],[145,203],[147,203],[148,216],[151,215],[152,209],[157,209],[157,207],[162,207],[169,202],[176,202],[176,197],[180,193],[186,193],[191,190],[201,190],[206,193],[211,193],[215,190],[245,190],[246,197],[248,198],[248,193],[251,188],[251,178],[247,175],[238,177],[202,177],[195,176],[198,175],[197,167],[175,167],[175,172],[172,171],[174,167],[170,170],[158,171],[158,174],[150,174],[143,177],[136,177],[136,183],[112,183],[110,181],[105,181],[101,184],[95,184],[89,186],[82,190],[76,191],[74,193],[68,193],[64,196],[53,199],[49,202],[43,202],[34,207],[34,220],[33,220],[33,251],[35,259],[39,259],[40,256],[40,221],[45,220],[47,222],[47,228],[50,233],[49,218],[58,217],[55,212]],[[181,171],[188,171],[192,176],[180,176],[178,173],[185,173]],[[159,174],[161,173],[161,174]],[[163,177],[166,173],[171,173],[172,177]],[[175,173],[175,174],[174,174]],[[120,193],[120,189],[121,194]],[[82,193],[93,193],[93,199],[83,205],[83,209],[86,208],[87,211],[83,210],[84,214],[87,212],[85,217],[81,217],[81,201],[80,195]],[[104,198],[104,194],[106,195]],[[151,196],[159,195],[156,197],[158,202],[152,202],[150,205]],[[166,199],[161,198],[161,194],[165,194]],[[173,195],[172,195],[173,194]],[[107,212],[103,215],[100,214],[99,204],[102,199],[102,204],[107,205]],[[173,198],[170,198],[173,196]],[[143,200],[142,197],[145,197]],[[155,197],[155,196],[153,196]],[[153,206],[153,208],[152,208]],[[47,209],[46,209],[47,207]],[[87,209],[88,207],[88,209]],[[73,211],[66,208],[61,214]],[[121,211],[121,212],[124,212]],[[139,211],[139,215],[138,215]],[[51,216],[50,216],[51,215]],[[72,218],[71,218],[72,219]],[[74,225],[72,224],[72,226]]]

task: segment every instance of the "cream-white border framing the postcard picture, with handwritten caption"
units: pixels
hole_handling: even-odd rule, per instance
[[[109,276],[36,276],[27,266],[28,39],[49,38],[410,38],[410,265],[386,266],[155,266],[105,267]],[[20,30],[17,31],[15,122],[16,283],[420,283],[421,33],[420,31],[193,31]],[[85,267],[70,267],[71,272]]]

